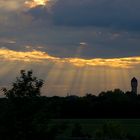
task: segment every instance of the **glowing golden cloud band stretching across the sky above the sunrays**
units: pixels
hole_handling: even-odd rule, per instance
[[[59,58],[46,52],[32,50],[28,52],[13,51],[6,48],[0,49],[1,61],[22,61],[27,63],[46,64],[48,62],[58,64],[69,64],[76,67],[111,67],[111,68],[133,68],[140,65],[140,57],[112,58],[112,59],[82,59],[82,58]]]

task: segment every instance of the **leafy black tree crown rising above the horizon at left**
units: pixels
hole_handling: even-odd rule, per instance
[[[11,89],[2,88],[8,98],[14,97],[34,97],[40,96],[40,89],[43,86],[43,80],[33,76],[33,72],[21,70],[20,77],[12,84]]]

